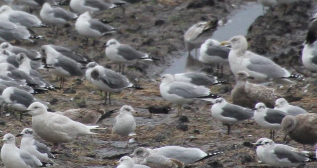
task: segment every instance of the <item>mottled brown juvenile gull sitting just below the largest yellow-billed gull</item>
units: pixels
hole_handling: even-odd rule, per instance
[[[233,104],[252,109],[257,103],[263,102],[267,107],[274,108],[275,100],[280,96],[274,89],[248,82],[250,78],[253,76],[249,76],[246,71],[236,74],[236,85],[230,95]]]

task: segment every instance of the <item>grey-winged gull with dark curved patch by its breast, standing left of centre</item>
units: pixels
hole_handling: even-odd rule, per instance
[[[125,88],[138,88],[138,86],[135,86],[132,83],[130,83],[128,78],[126,78],[125,76],[113,70],[107,69],[101,65],[93,67],[90,76],[93,85],[95,85],[98,89],[105,92],[105,104],[107,101],[108,93],[109,104],[111,104],[111,93],[121,92]]]

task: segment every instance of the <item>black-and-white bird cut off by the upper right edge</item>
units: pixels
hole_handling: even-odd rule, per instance
[[[317,72],[317,14],[309,27],[302,51],[302,62],[306,69]]]

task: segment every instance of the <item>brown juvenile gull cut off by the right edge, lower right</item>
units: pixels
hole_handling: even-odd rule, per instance
[[[282,120],[283,131],[294,141],[304,145],[317,143],[317,114],[287,115]]]

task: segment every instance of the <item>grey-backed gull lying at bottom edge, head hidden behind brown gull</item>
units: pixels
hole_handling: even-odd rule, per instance
[[[163,146],[155,149],[147,148],[147,150],[151,153],[162,155],[166,158],[181,161],[184,163],[184,165],[199,162],[222,153],[216,151],[207,154],[199,148],[185,148],[181,146]]]

